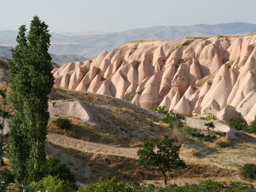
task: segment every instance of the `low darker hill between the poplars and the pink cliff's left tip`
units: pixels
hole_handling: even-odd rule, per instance
[[[5,46],[0,46],[0,56],[11,58],[11,49],[12,47],[5,47]],[[67,63],[67,62],[72,62],[72,61],[85,61],[87,60],[84,56],[81,55],[74,55],[74,54],[67,54],[67,55],[55,55],[55,54],[50,54],[52,57],[52,61],[57,62],[57,63]],[[58,65],[60,66],[60,65]]]

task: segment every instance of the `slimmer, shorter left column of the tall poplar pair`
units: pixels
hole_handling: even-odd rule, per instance
[[[24,124],[23,88],[26,84],[26,26],[20,26],[16,38],[17,46],[13,49],[13,60],[9,64],[9,102],[15,109],[9,120],[9,160],[15,179],[19,182],[27,177],[26,160],[30,146],[26,141],[26,125]]]

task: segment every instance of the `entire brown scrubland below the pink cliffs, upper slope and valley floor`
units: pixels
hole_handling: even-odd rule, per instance
[[[72,126],[66,130],[57,127],[52,120],[49,120],[49,132],[67,136],[67,139],[57,136],[49,138],[49,142],[53,144],[52,148],[59,151],[57,154],[61,156],[61,160],[66,162],[84,183],[95,182],[97,177],[111,176],[118,176],[126,181],[162,183],[158,181],[161,175],[157,169],[137,165],[136,152],[143,142],[159,141],[160,137],[167,134],[175,138],[177,143],[182,144],[181,157],[188,164],[188,168],[171,174],[173,181],[182,184],[214,178],[228,183],[242,181],[256,184],[253,180],[246,180],[240,175],[240,168],[245,162],[256,162],[256,138],[253,135],[239,133],[235,140],[227,140],[224,133],[212,131],[211,135],[216,139],[207,142],[191,136],[193,129],[170,130],[168,125],[159,119],[158,114],[110,96],[55,87],[50,98],[62,101],[79,100],[101,110],[109,108],[109,113],[106,112],[104,118],[117,122],[116,125],[113,123],[111,126],[108,124],[104,126],[102,125],[104,121],[97,117],[98,113],[95,113],[96,119],[92,123],[69,118]],[[128,114],[127,110],[129,110]],[[118,121],[113,120],[116,118],[116,113],[119,116]],[[120,125],[124,125],[125,130]],[[199,132],[207,135],[207,131]],[[76,140],[68,141],[70,137]],[[85,144],[81,140],[91,144]],[[98,146],[94,147],[95,143]]]

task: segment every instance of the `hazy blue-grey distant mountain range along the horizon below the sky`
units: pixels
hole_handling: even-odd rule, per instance
[[[256,24],[234,22],[217,25],[154,26],[124,32],[103,34],[52,33],[49,51],[55,55],[84,55],[93,58],[103,50],[119,48],[122,44],[137,39],[173,40],[186,37],[207,37],[218,34],[245,34],[256,32]],[[15,44],[15,31],[0,31],[0,44]]]

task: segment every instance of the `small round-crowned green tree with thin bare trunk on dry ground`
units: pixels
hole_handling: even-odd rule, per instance
[[[165,184],[167,184],[166,172],[185,167],[184,161],[179,158],[180,147],[175,145],[174,140],[167,136],[158,144],[144,143],[143,148],[137,151],[138,164],[159,167],[164,176]]]

